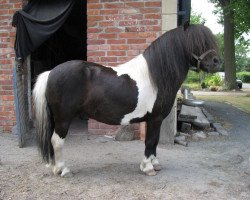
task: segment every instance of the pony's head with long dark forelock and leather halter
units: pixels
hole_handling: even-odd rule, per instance
[[[190,52],[191,69],[217,72],[221,66],[216,38],[203,25],[184,25],[187,51]]]

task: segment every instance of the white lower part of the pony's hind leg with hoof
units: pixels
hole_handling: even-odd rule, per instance
[[[64,160],[63,160],[63,144],[64,139],[60,138],[56,132],[53,133],[51,138],[51,143],[54,149],[55,154],[55,165],[53,166],[53,173],[55,175],[61,174],[62,177],[65,176],[71,176],[69,168],[65,166]]]

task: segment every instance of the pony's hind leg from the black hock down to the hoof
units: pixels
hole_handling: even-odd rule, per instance
[[[63,158],[63,145],[67,132],[68,126],[64,127],[63,129],[62,127],[55,128],[51,138],[51,143],[54,149],[54,166],[52,167],[52,171],[55,175],[60,174],[62,177],[68,177],[72,175],[69,168],[65,166]]]

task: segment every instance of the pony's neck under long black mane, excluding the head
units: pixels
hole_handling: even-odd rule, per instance
[[[189,55],[180,29],[164,33],[143,53],[150,74],[163,95],[176,93],[186,78]]]

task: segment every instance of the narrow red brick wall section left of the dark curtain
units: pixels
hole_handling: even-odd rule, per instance
[[[20,0],[0,0],[0,131],[3,132],[10,132],[16,122],[12,83],[15,28],[11,22],[20,8]]]

